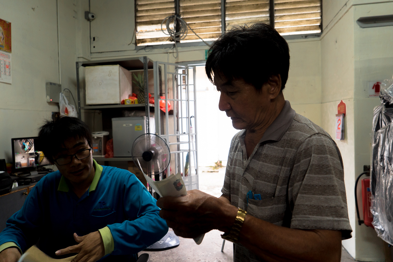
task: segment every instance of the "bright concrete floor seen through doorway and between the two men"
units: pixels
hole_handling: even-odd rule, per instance
[[[199,189],[210,195],[219,197],[221,188],[224,184],[225,167],[213,170],[209,167],[201,167],[199,175]],[[214,171],[214,172],[212,172]],[[232,262],[233,261],[233,244],[225,242],[224,252],[221,252],[223,239],[221,232],[212,230],[206,233],[202,243],[198,246],[193,239],[180,238],[180,245],[173,249],[165,251],[142,251],[149,253],[151,262]],[[341,262],[355,261],[351,255],[342,247]]]

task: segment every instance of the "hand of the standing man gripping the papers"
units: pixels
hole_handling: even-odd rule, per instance
[[[180,237],[195,238],[212,229],[229,231],[235,221],[237,208],[228,201],[203,193],[187,191],[187,195],[165,196],[157,200],[160,217],[166,220]]]

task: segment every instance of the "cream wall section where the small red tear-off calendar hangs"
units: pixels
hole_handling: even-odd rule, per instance
[[[348,215],[351,227],[355,224],[354,208],[354,36],[353,11],[343,16],[321,38],[322,50],[322,125],[333,138],[337,105],[343,100],[347,106],[345,115],[345,140],[337,141],[344,164],[344,181],[347,192]],[[344,247],[354,257],[355,236],[343,241]]]

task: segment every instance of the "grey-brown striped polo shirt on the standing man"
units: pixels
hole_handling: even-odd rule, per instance
[[[331,229],[351,237],[343,162],[331,136],[285,101],[247,159],[244,136],[232,141],[222,193],[247,215],[294,229]],[[261,200],[247,198],[260,194]],[[255,197],[254,197],[255,198]],[[262,261],[235,245],[235,262]]]

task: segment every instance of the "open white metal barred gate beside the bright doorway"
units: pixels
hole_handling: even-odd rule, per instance
[[[181,173],[187,190],[199,189],[195,66],[154,62],[153,68],[156,133],[171,151],[167,174]]]

